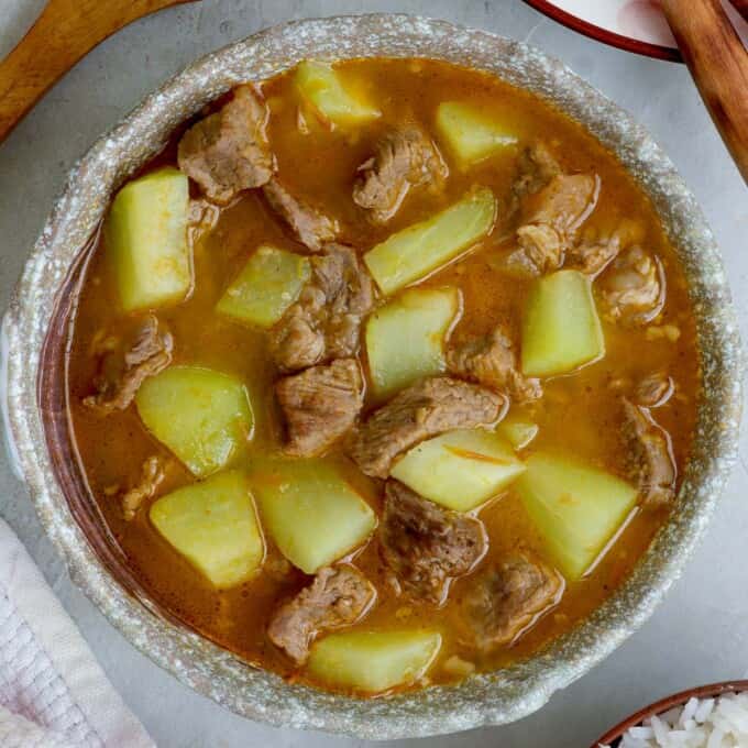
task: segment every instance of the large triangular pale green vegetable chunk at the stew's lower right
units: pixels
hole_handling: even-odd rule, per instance
[[[538,453],[517,491],[548,551],[570,580],[590,569],[634,508],[637,490],[597,468]]]

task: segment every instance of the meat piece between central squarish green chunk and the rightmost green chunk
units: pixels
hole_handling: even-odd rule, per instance
[[[519,372],[512,341],[501,328],[450,349],[447,365],[453,374],[506,392],[518,403],[542,397],[540,382],[526,378]]]

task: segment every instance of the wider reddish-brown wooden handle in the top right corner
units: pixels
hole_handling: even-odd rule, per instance
[[[718,0],[661,0],[702,99],[748,183],[748,52]]]

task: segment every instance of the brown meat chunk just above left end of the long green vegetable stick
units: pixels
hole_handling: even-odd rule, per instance
[[[447,168],[426,133],[410,125],[386,133],[359,173],[353,201],[370,210],[375,223],[385,223],[411,187],[444,179]]]

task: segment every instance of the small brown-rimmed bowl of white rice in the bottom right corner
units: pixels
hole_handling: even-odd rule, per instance
[[[682,691],[647,706],[592,748],[747,748],[748,681]]]

